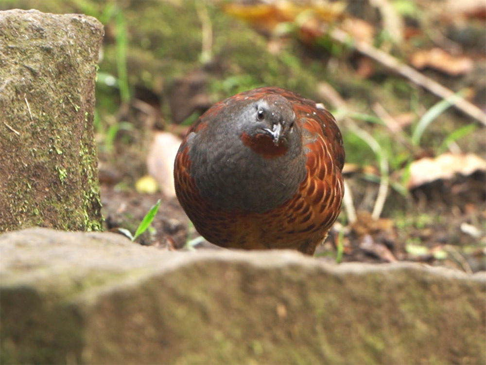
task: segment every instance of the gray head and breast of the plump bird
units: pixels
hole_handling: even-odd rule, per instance
[[[245,135],[252,141],[265,136],[270,153],[279,152],[271,157],[255,152],[243,143]],[[295,195],[305,177],[301,129],[290,102],[278,95],[228,103],[188,144],[199,192],[227,211],[276,208]]]

